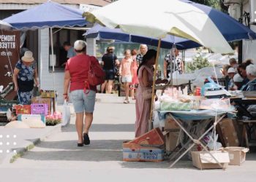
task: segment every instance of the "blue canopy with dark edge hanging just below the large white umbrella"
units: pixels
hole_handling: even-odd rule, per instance
[[[138,36],[129,33],[124,33],[120,28],[108,28],[102,25],[94,25],[93,28],[86,31],[84,34],[86,38],[99,38],[99,39],[114,39],[118,41],[135,42],[140,44],[148,44],[151,46],[156,46],[158,44],[158,39],[154,39],[147,36]],[[201,45],[195,41],[180,38],[177,36],[167,35],[165,39],[162,39],[161,47],[165,49],[170,49],[176,44],[178,50],[186,50],[190,48],[200,47]]]

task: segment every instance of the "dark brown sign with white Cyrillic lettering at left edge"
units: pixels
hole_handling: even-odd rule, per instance
[[[20,32],[0,30],[0,85],[7,87],[12,82],[12,77],[7,76],[8,71],[15,68],[20,56]],[[5,68],[8,66],[8,70]],[[11,69],[12,68],[12,69]],[[13,99],[15,92],[7,95],[7,99]]]

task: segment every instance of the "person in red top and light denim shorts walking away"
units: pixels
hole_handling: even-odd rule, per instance
[[[70,98],[75,108],[75,125],[78,132],[78,146],[89,145],[89,128],[93,120],[96,87],[86,85],[90,62],[92,65],[99,64],[99,61],[92,56],[86,55],[86,42],[82,40],[75,41],[74,44],[76,56],[67,60],[64,77],[64,99]],[[70,87],[69,87],[70,86]],[[85,127],[83,127],[83,116],[85,118]]]

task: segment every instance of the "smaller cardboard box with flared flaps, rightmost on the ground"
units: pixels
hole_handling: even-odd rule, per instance
[[[227,151],[230,156],[230,163],[228,165],[241,165],[245,162],[246,152],[249,149],[244,147],[226,147],[223,149]]]

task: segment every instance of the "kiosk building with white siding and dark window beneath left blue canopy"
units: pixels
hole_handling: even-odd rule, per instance
[[[94,9],[110,3],[108,0],[53,0],[60,4],[73,8]],[[0,20],[23,10],[35,7],[44,3],[45,0],[0,0]],[[49,28],[37,31],[26,31],[26,39],[23,46],[29,48],[34,53],[39,71],[39,83],[42,90],[56,90],[59,94],[58,102],[62,103],[64,66],[61,67],[67,52],[64,52],[62,44],[64,41],[74,43],[76,39],[83,39],[86,28],[54,28],[53,29],[53,54],[56,58],[56,71],[53,73],[52,62],[50,62],[50,31]],[[87,40],[87,52],[96,55],[95,40]],[[66,57],[67,58],[67,57]]]

